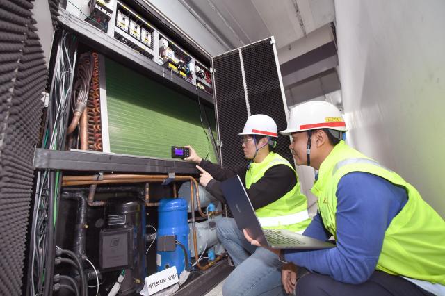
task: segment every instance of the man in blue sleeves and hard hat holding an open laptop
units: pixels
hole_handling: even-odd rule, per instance
[[[318,214],[303,234],[337,242],[316,251],[270,249],[309,270],[298,283],[283,270],[286,292],[445,295],[445,221],[401,176],[346,145],[345,131],[340,111],[325,101],[294,107],[282,131],[297,165],[318,170]]]

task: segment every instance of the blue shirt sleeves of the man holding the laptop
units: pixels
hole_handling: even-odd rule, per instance
[[[385,231],[407,202],[405,189],[365,172],[343,176],[337,186],[337,247],[284,251],[286,261],[343,283],[363,283],[375,270]],[[327,240],[318,213],[303,233]]]

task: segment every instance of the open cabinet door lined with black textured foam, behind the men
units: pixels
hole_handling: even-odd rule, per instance
[[[278,131],[287,126],[287,104],[273,37],[212,58],[213,97],[220,140],[221,165],[247,164],[240,137],[250,115],[272,117]],[[280,135],[275,151],[293,163],[289,137]]]

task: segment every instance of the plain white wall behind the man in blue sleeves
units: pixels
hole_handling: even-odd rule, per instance
[[[336,0],[348,142],[445,217],[445,1]]]

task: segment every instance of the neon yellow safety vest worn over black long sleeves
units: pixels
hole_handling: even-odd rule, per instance
[[[261,179],[266,170],[274,165],[287,165],[295,172],[289,161],[279,154],[270,152],[261,163],[251,163],[245,174],[245,187],[250,188],[253,183]],[[289,231],[302,231],[310,224],[307,213],[306,196],[300,192],[300,182],[275,202],[257,209],[258,220],[264,229],[287,229]]]

